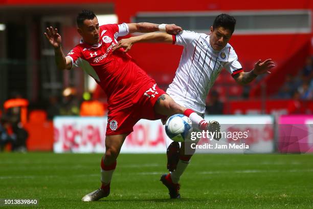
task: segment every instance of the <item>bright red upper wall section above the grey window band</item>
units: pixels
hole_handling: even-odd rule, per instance
[[[33,0],[34,1],[34,0]],[[81,1],[81,0],[80,0]],[[114,1],[119,21],[129,22],[129,16],[136,15],[139,11],[231,11],[231,10],[279,10],[279,9],[313,9],[313,1],[272,1],[263,0],[247,2],[245,0],[197,0],[193,4],[190,1]]]

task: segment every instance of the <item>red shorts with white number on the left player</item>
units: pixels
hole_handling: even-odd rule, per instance
[[[106,136],[129,134],[140,119],[158,120],[166,116],[154,112],[154,104],[165,91],[157,84],[148,85],[143,92],[123,107],[111,108],[107,116]]]

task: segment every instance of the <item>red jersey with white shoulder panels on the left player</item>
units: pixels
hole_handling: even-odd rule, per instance
[[[131,102],[138,94],[144,94],[147,89],[143,87],[155,83],[123,52],[124,49],[112,52],[118,42],[117,37],[127,35],[128,32],[127,24],[100,26],[100,41],[97,45],[90,46],[81,40],[68,54],[72,66],[82,68],[96,80],[106,93],[111,107]]]

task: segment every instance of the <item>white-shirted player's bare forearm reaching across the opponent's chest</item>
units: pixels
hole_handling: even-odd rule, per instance
[[[125,53],[128,52],[133,44],[136,43],[173,43],[173,36],[167,33],[147,33],[144,35],[133,36],[121,39],[117,45],[113,47],[113,51],[124,48]]]

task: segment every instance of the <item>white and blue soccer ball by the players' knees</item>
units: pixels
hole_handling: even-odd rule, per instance
[[[172,115],[165,123],[165,132],[173,141],[185,141],[192,132],[190,118],[182,114]]]

